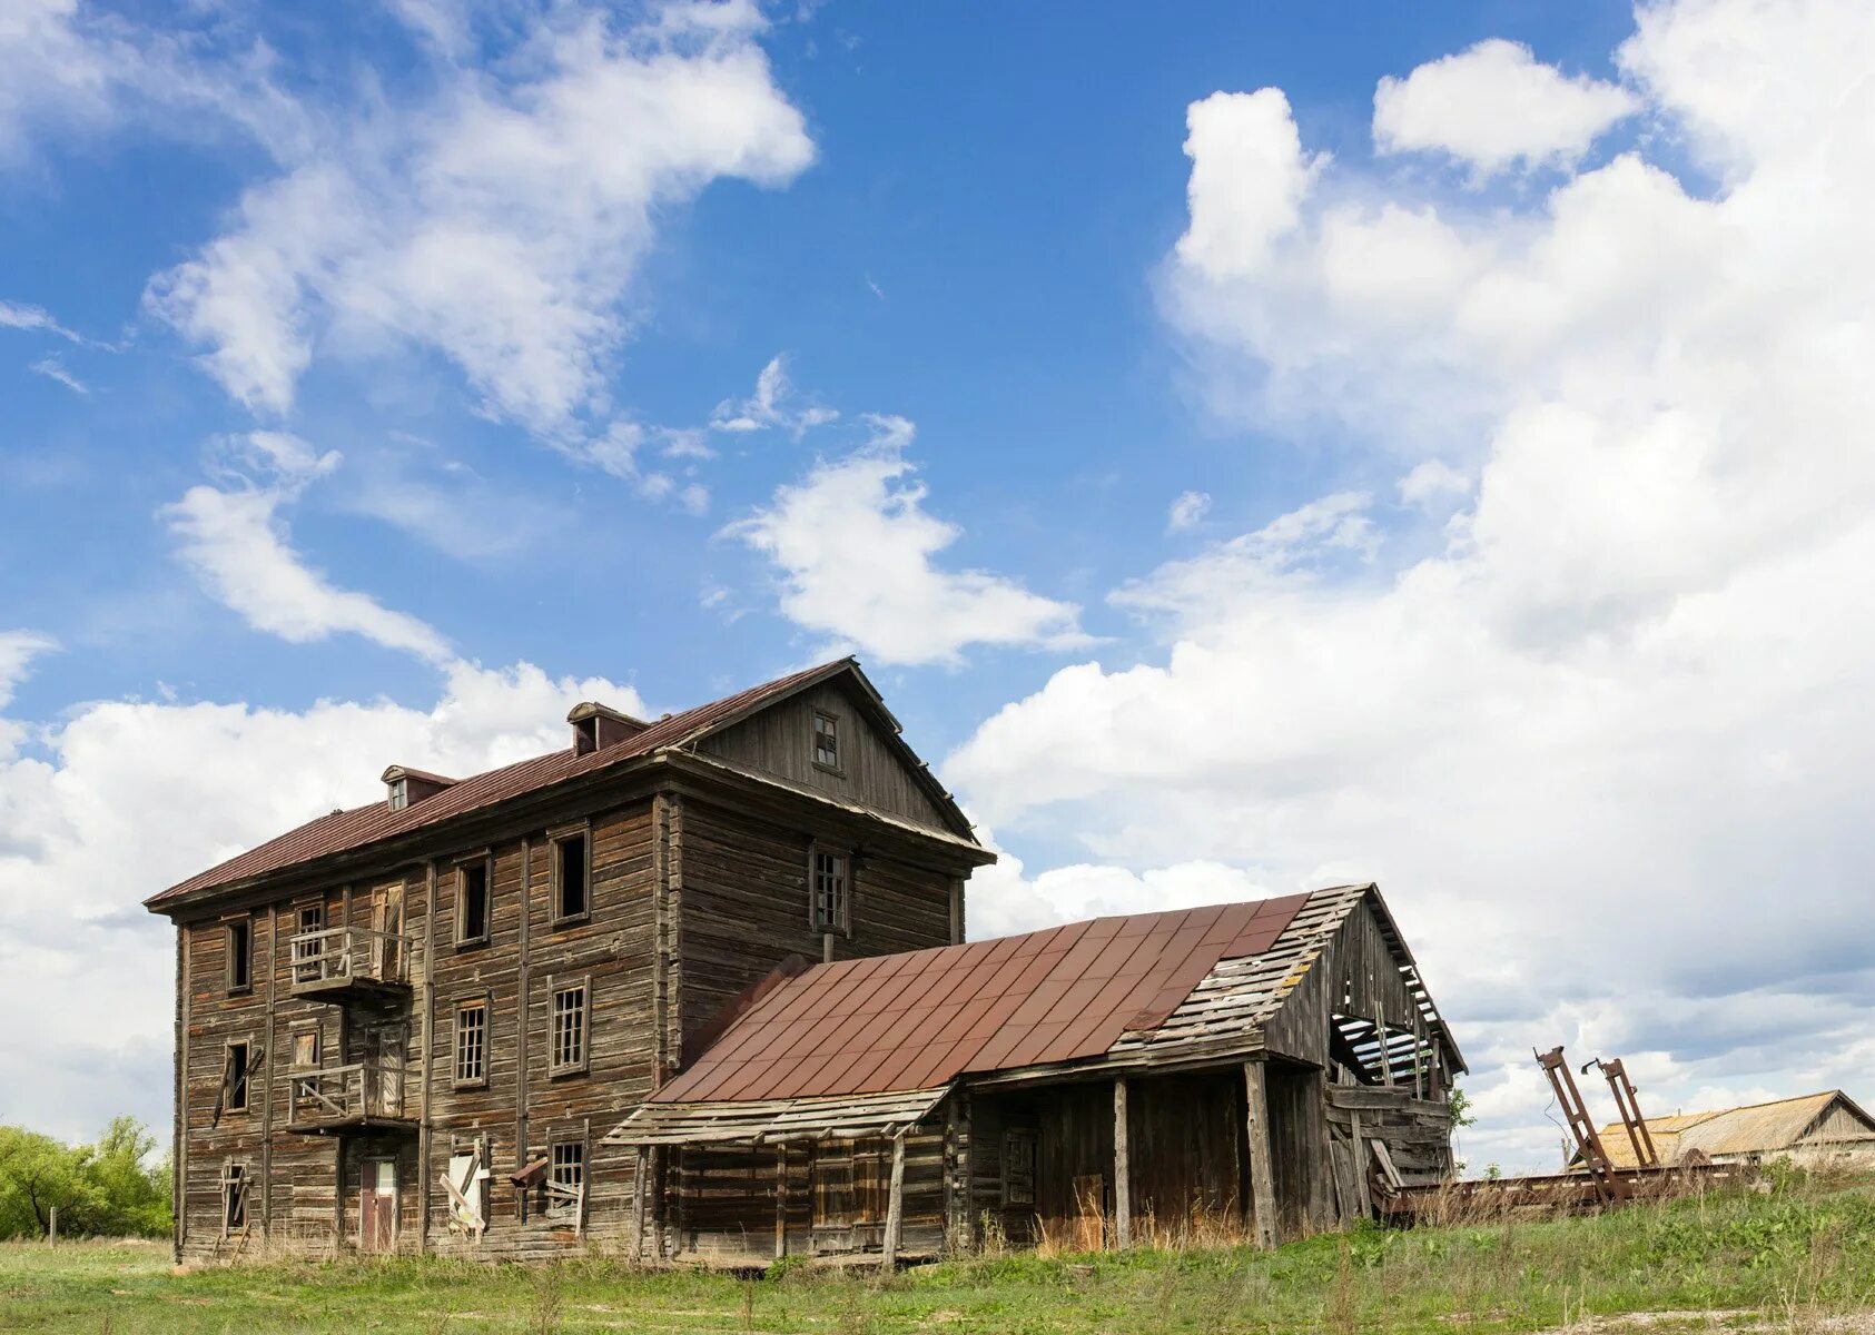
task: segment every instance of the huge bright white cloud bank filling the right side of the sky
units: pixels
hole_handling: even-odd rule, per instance
[[[1312,159],[1194,135],[1164,294],[1213,407],[1337,418],[1350,472],[1451,504],[1342,491],[1162,566],[1116,594],[1157,652],[945,767],[1005,838],[1084,831],[1063,861],[1380,879],[1479,1164],[1552,1164],[1532,1046],[1671,1054],[1656,1104],[1800,1093],[1875,1005],[1875,11],[1650,6],[1618,64],[1721,189],[1639,152],[1489,210],[1324,169],[1239,242],[1209,202]]]

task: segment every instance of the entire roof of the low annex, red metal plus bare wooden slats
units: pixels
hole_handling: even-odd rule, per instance
[[[699,1140],[728,1125],[782,1138],[819,1125],[799,1108],[780,1119],[791,1101],[851,1121],[853,1101],[922,1093],[930,1106],[964,1076],[1241,1050],[1369,896],[1380,904],[1372,885],[1342,885],[819,964],[774,982],[611,1138]],[[1429,998],[1421,1009],[1462,1067]]]

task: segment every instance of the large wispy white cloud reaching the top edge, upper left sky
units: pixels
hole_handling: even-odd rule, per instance
[[[502,75],[448,64],[426,103],[330,120],[148,304],[257,412],[287,412],[322,351],[433,349],[486,412],[578,452],[604,435],[656,216],[814,158],[759,22],[742,4],[634,30],[557,9]]]

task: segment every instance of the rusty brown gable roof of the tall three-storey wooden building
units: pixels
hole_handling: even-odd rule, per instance
[[[441,825],[452,818],[467,816],[471,812],[488,810],[489,806],[525,793],[536,793],[553,788],[555,784],[615,769],[630,761],[639,761],[662,750],[682,748],[701,737],[707,737],[709,733],[729,728],[750,714],[767,709],[769,705],[788,699],[797,692],[836,677],[851,679],[851,684],[857,688],[861,699],[879,716],[883,724],[879,731],[887,739],[887,744],[902,752],[902,759],[906,759],[908,769],[917,776],[921,786],[924,786],[932,801],[938,802],[938,808],[945,814],[945,818],[952,821],[952,829],[964,838],[973,838],[969,834],[969,821],[964,818],[962,810],[958,810],[951,795],[930,774],[930,771],[919,763],[917,756],[898,735],[898,720],[892,718],[889,709],[885,709],[885,701],[879,699],[879,692],[866,681],[866,675],[859,669],[859,662],[855,658],[836,658],[832,662],[819,664],[818,668],[808,668],[804,671],[789,673],[788,677],[776,677],[774,681],[759,686],[750,686],[748,690],[714,699],[707,705],[686,709],[681,714],[669,714],[634,737],[602,750],[581,754],[572,746],[566,746],[564,750],[548,752],[546,756],[534,756],[531,759],[516,761],[514,765],[502,765],[501,769],[456,780],[433,797],[401,810],[392,810],[388,802],[379,801],[368,806],[352,806],[349,810],[332,812],[330,816],[319,816],[317,819],[291,829],[278,838],[270,838],[264,844],[257,844],[246,853],[238,853],[206,872],[199,872],[189,879],[161,891],[159,894],[152,894],[144,900],[144,906],[152,911],[165,911],[176,902],[204,891],[236,885],[240,881],[249,881],[253,878],[268,876],[292,866],[304,866],[338,853],[358,851],[381,840],[409,834],[429,825]]]

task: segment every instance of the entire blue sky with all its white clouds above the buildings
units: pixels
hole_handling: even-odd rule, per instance
[[[1474,1159],[1556,1041],[1851,1080],[1856,6],[19,13],[15,999],[167,1014],[137,902],[384,763],[853,651],[979,932],[1378,878]],[[163,1033],[0,1116],[161,1119]]]

